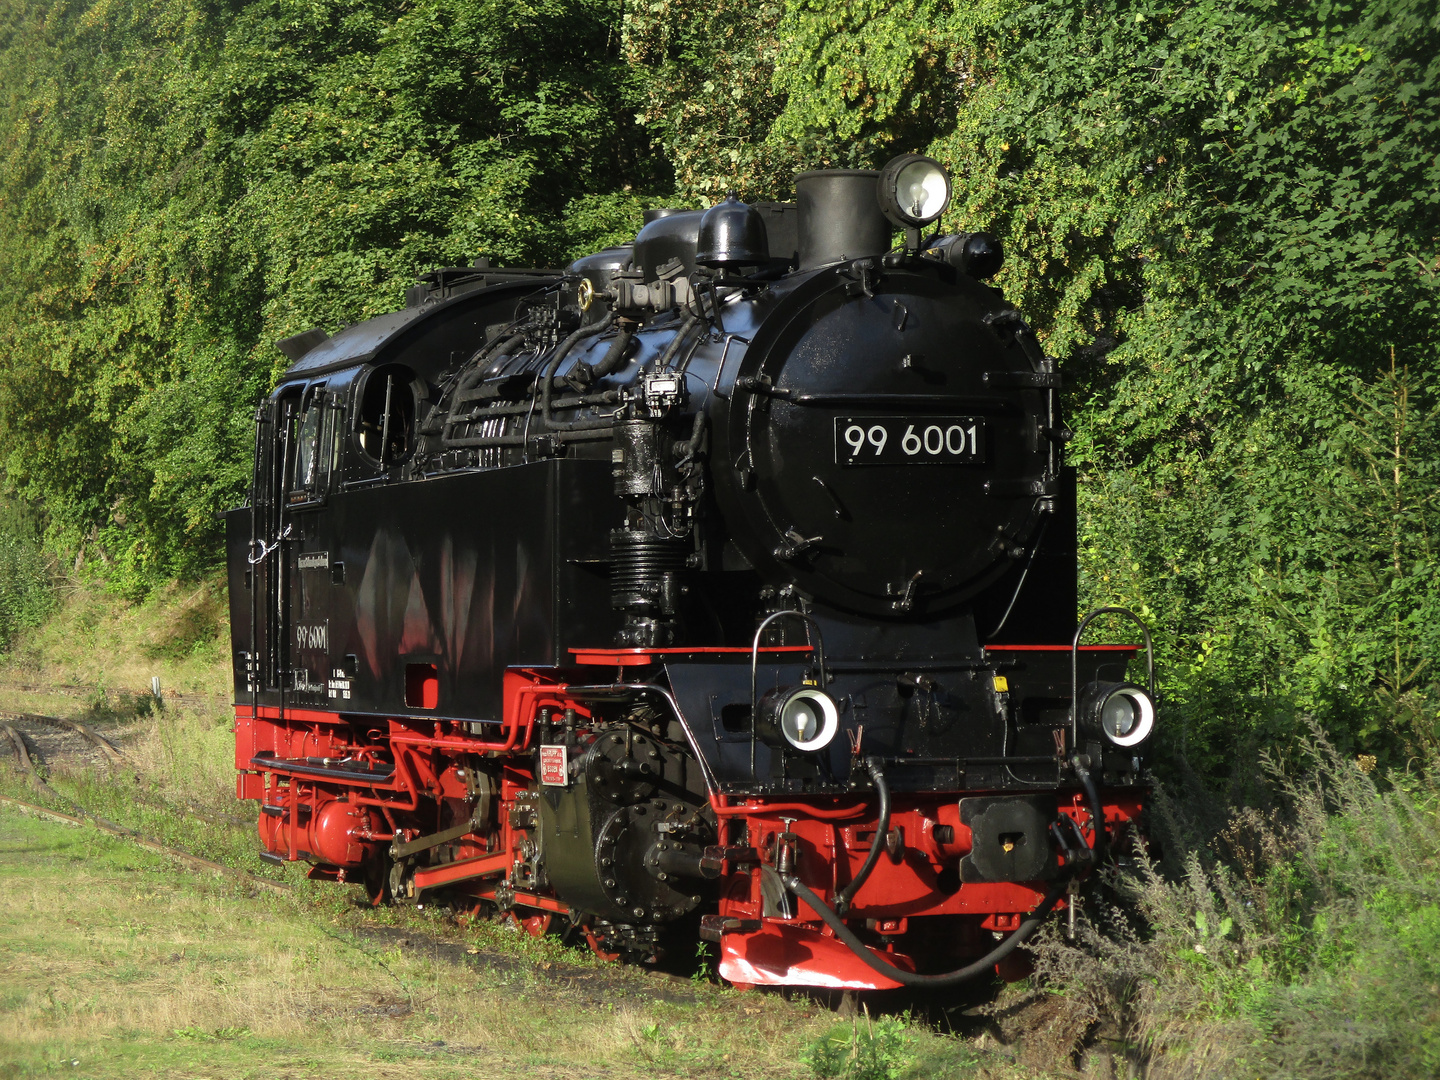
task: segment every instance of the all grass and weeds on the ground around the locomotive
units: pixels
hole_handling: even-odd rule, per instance
[[[1440,1074],[1440,788],[1377,782],[1319,733],[1303,768],[1272,763],[1238,808],[1198,786],[1158,799],[1162,858],[1113,880],[1077,942],[1045,932],[1037,978],[989,1007],[989,1035],[949,1038],[704,978],[660,999],[655,979],[557,939],[363,907],[357,887],[262,863],[255,808],[233,798],[215,596],[73,592],[0,665],[0,706],[122,742],[122,768],[52,757],[56,809],[292,893],[0,808],[0,1080]],[[151,674],[180,693],[158,706]],[[0,792],[37,798],[3,763]]]

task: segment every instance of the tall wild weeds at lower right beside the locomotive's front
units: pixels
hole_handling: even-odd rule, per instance
[[[1151,1077],[1440,1074],[1440,786],[1377,782],[1310,730],[1269,799],[1159,792],[1153,860],[1038,973]]]

